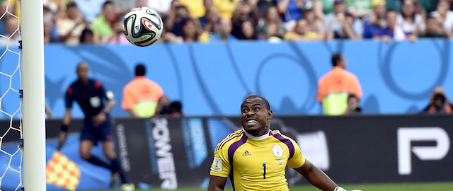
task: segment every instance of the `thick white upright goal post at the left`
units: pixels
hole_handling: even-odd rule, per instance
[[[46,190],[42,0],[21,0],[23,187]]]

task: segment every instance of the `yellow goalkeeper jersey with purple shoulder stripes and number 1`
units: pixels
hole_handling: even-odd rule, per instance
[[[235,191],[289,190],[285,167],[304,163],[296,141],[280,131],[253,137],[241,129],[217,144],[210,175],[229,177]]]

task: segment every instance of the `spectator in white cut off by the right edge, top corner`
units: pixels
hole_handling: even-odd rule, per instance
[[[450,4],[447,0],[438,0],[436,11],[433,11],[432,16],[437,18],[439,23],[442,23],[448,34],[452,34],[453,29],[453,11],[450,11]]]

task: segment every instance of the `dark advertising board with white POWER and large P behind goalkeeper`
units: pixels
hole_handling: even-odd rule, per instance
[[[277,116],[270,122],[271,129],[297,141],[302,154],[336,183],[452,181],[451,115]],[[60,124],[47,120],[47,158],[57,147]],[[241,127],[239,117],[115,118],[113,124],[117,156],[130,180],[143,189],[206,187],[215,146]],[[81,125],[74,120],[61,151],[81,168],[80,190],[105,190],[108,170],[79,156]],[[12,132],[1,149],[17,146],[17,139]],[[93,154],[106,160],[99,145]],[[0,166],[8,160],[1,154]],[[16,186],[13,178],[18,177],[7,174],[2,188]],[[307,184],[292,169],[287,169],[287,179],[290,185]],[[58,189],[48,185],[48,190]]]

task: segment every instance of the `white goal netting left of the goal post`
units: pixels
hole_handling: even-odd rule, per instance
[[[21,52],[18,48],[18,16],[11,1],[1,2],[0,22],[0,190],[21,190]]]

